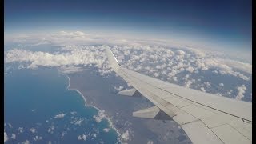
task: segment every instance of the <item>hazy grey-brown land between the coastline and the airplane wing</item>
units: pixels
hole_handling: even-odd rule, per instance
[[[153,106],[144,97],[118,95],[115,87],[127,88],[126,82],[115,74],[102,77],[93,70],[68,74],[69,89],[78,90],[86,106],[101,110],[123,142],[127,143],[191,143],[185,132],[174,121],[134,118],[132,112]],[[96,117],[95,117],[96,118]]]

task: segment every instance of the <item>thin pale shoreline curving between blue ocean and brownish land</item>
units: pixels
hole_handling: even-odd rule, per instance
[[[80,95],[82,96],[82,99],[83,99],[84,102],[85,102],[85,106],[94,107],[94,109],[96,109],[96,110],[98,110],[98,111],[102,111],[102,110],[100,110],[100,109],[99,109],[98,107],[96,107],[96,106],[87,104],[87,101],[86,101],[85,96],[84,96],[79,90],[77,90],[77,89],[70,89],[70,83],[71,83],[70,77],[68,76],[68,74],[65,74],[65,73],[62,73],[62,72],[61,72],[61,74],[65,75],[66,78],[68,78],[69,83],[68,83],[68,86],[66,86],[66,89],[67,89],[67,90],[74,90],[74,91],[78,92],[78,94],[80,94]],[[106,118],[106,120],[109,122],[110,128],[112,128],[113,130],[115,130],[115,131],[117,132],[117,134],[118,134],[118,139],[120,139],[120,136],[121,136],[122,134],[120,134],[120,132],[117,130],[117,128],[114,127],[113,122],[111,122],[110,118],[108,118],[108,116],[107,116],[106,114],[105,114],[105,117],[104,117],[104,118]]]

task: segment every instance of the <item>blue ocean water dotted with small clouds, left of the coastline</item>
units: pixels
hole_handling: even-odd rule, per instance
[[[14,70],[4,79],[6,143],[118,143],[106,118],[85,106],[57,70]]]

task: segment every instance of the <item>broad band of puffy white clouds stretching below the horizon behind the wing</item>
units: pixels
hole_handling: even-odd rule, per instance
[[[8,50],[5,51],[4,62],[7,64],[19,62],[23,68],[29,69],[35,69],[38,66],[57,67],[58,70],[67,74],[93,66],[99,74],[106,75],[113,71],[108,65],[105,54],[106,47],[110,47],[117,56],[118,62],[130,70],[179,85],[185,82],[186,87],[193,84],[198,90],[201,89],[202,83],[207,86],[207,91],[217,89],[214,85],[220,83],[211,82],[212,86],[210,86],[210,82],[203,82],[204,78],[200,78],[202,82],[189,80],[189,78],[198,77],[198,74],[202,77],[203,74],[228,75],[237,78],[237,81],[251,80],[250,63],[192,47],[156,41],[94,37],[81,31],[61,31],[43,38],[38,37],[38,40],[36,38],[26,35],[20,39],[31,41],[28,43],[48,42],[62,47],[58,48],[58,52],[22,50],[22,48]],[[91,45],[92,42],[96,45]],[[184,77],[186,74],[190,74],[189,78]],[[223,90],[220,93],[226,93],[226,91]]]

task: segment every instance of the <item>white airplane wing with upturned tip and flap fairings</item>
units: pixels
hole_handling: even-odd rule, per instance
[[[109,48],[113,70],[155,106],[133,113],[134,117],[173,119],[193,143],[252,143],[252,104],[163,82],[118,64]]]

